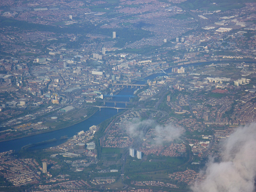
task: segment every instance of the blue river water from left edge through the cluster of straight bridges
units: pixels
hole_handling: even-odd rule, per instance
[[[119,95],[131,95],[134,92],[134,88],[124,88]],[[116,98],[114,97],[112,101],[122,101],[122,102],[128,102],[129,98]],[[108,103],[106,102],[106,106],[113,106],[114,103]],[[125,104],[116,104],[117,107],[125,108]],[[122,112],[124,109],[119,109],[118,113]],[[71,112],[72,113],[72,112]],[[54,142],[50,143],[44,143],[41,145],[37,145],[36,147],[32,147],[30,149],[35,148],[48,148],[52,146],[56,146],[59,144],[62,144],[67,139],[61,139],[63,136],[68,136],[68,138],[73,137],[77,132],[80,132],[82,130],[86,131],[89,130],[90,126],[98,125],[104,120],[107,120],[108,118],[111,118],[112,116],[115,116],[117,113],[117,110],[114,108],[101,108],[101,110],[98,110],[94,115],[92,115],[90,118],[84,120],[83,122],[80,122],[78,124],[72,125],[67,128],[63,128],[60,130],[55,130],[52,132],[46,132],[38,135],[28,136],[20,139],[0,142],[0,152],[8,151],[8,150],[21,150],[22,146],[28,145],[28,144],[35,144],[38,142],[47,141],[50,139],[56,139]]]

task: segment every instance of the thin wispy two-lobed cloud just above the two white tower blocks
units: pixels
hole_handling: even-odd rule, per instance
[[[154,142],[158,145],[165,141],[170,142],[178,139],[184,132],[184,129],[180,127],[175,127],[172,125],[161,126],[156,124],[156,122],[153,120],[140,120],[138,118],[134,118],[132,122],[128,124],[126,130],[131,137],[139,137],[143,139],[148,128],[153,129],[152,134],[154,136]]]

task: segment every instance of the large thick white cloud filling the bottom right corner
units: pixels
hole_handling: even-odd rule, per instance
[[[256,177],[256,123],[238,128],[222,142],[222,161],[210,159],[206,179],[194,192],[254,192]]]

